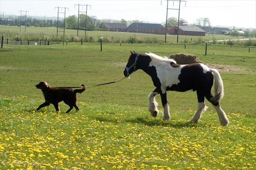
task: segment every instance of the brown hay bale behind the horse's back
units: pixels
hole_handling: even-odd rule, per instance
[[[193,54],[172,54],[170,58],[174,59],[177,64],[193,64],[193,63],[202,63],[196,55]]]

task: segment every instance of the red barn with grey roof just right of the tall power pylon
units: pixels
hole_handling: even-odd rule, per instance
[[[177,35],[178,27],[173,27],[168,30],[168,34]],[[179,26],[179,35],[195,35],[205,36],[205,31],[199,27]]]

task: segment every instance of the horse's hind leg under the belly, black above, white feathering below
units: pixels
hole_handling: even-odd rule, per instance
[[[199,122],[203,112],[206,111],[206,109],[208,108],[207,106],[205,106],[204,94],[199,91],[197,91],[197,100],[198,100],[197,112],[194,114],[193,118],[190,120],[191,122],[195,122],[195,123]]]

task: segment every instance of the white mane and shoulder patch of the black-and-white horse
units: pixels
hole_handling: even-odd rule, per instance
[[[157,77],[161,83],[162,93],[166,93],[166,88],[172,85],[180,83],[178,79],[181,69],[185,65],[180,65],[180,67],[174,68],[171,66],[171,62],[176,64],[174,59],[168,59],[167,57],[160,57],[153,53],[146,53],[146,55],[151,57],[151,62],[149,66],[155,66]]]

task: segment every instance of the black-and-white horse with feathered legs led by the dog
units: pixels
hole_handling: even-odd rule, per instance
[[[138,69],[146,72],[152,79],[156,87],[148,95],[148,111],[153,117],[159,113],[158,102],[155,96],[160,94],[162,106],[164,107],[164,120],[170,120],[169,103],[167,101],[166,91],[185,92],[193,90],[197,92],[198,108],[191,122],[198,123],[203,112],[208,108],[205,105],[205,98],[216,109],[220,123],[223,126],[228,125],[229,120],[220,107],[220,100],[224,96],[224,86],[222,78],[216,69],[208,68],[201,63],[177,64],[174,59],[161,57],[151,52],[139,54],[130,51],[126,67],[123,71],[125,77],[129,77]],[[214,91],[211,88],[214,83]]]

